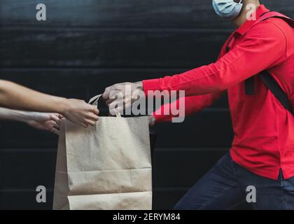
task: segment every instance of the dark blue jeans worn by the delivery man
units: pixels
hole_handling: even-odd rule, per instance
[[[255,187],[255,203],[246,200],[248,186]],[[294,177],[285,180],[281,172],[278,180],[258,176],[237,165],[227,153],[174,209],[235,209],[242,203],[253,209],[294,209]]]

